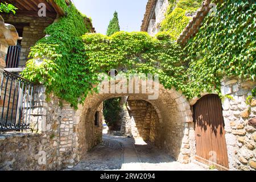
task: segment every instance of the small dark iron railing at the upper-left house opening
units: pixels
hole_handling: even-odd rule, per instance
[[[9,46],[6,55],[6,68],[18,68],[21,46]]]

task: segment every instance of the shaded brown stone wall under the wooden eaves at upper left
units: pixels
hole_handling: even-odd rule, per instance
[[[42,39],[46,34],[44,30],[50,24],[53,23],[54,18],[50,17],[38,17],[38,16],[28,16],[28,15],[13,15],[13,14],[1,14],[3,19],[5,19],[6,23],[18,24],[17,27],[23,27],[23,35],[19,35],[22,37],[21,42],[21,53],[20,53],[20,62],[19,67],[24,67],[26,65],[28,59],[28,53],[30,52],[30,48],[35,45],[35,43]]]

